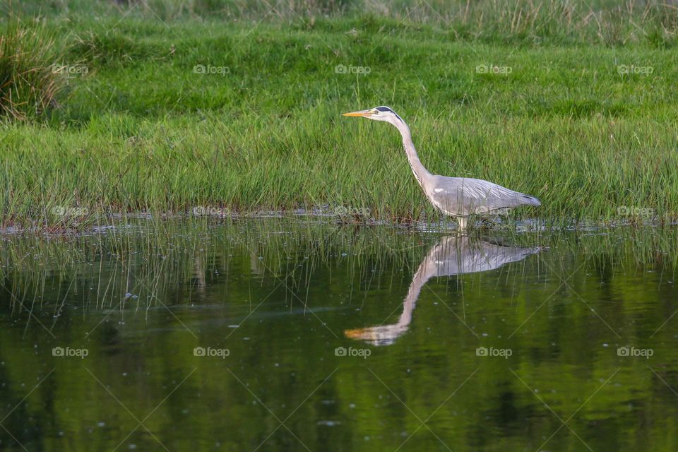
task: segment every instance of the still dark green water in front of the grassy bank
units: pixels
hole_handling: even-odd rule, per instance
[[[3,451],[676,451],[678,231],[1,239]]]

